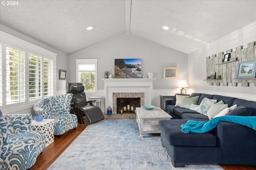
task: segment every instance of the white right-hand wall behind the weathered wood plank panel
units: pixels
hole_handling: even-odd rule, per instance
[[[256,101],[256,86],[254,83],[250,83],[249,87],[242,87],[241,83],[238,83],[237,87],[231,86],[210,86],[209,83],[203,81],[206,79],[206,57],[219,52],[233,49],[236,51],[236,47],[243,45],[243,48],[247,47],[247,43],[256,41],[256,22],[239,29],[225,37],[222,37],[209,45],[188,54],[188,84],[191,88],[191,92],[202,92],[208,94],[219,94],[223,96],[232,96],[242,98],[245,100]]]

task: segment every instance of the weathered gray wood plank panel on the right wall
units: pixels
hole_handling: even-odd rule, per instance
[[[236,79],[238,63],[256,59],[256,41],[248,43],[247,48],[244,49],[242,45],[236,47],[236,51],[228,49],[225,54],[228,53],[231,53],[230,58],[236,57],[237,61],[220,63],[220,60],[224,58],[224,52],[206,57],[206,75],[210,76],[211,72],[216,72],[216,75],[221,75],[222,77],[220,80],[207,80],[209,85],[213,86],[215,83],[215,86],[220,86],[220,83],[222,83],[223,86],[230,84],[231,86],[237,86],[238,83],[242,83],[242,86],[248,87],[250,83],[254,83],[254,86],[256,86],[255,78]]]

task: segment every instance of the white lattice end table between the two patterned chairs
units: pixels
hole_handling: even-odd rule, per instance
[[[45,135],[46,135],[46,146],[45,147],[48,147],[48,145],[50,145],[54,141],[54,135],[53,135],[54,122],[53,121],[54,121],[54,119],[44,119],[42,121],[36,121],[36,120],[31,121],[32,130],[43,131],[45,133]]]

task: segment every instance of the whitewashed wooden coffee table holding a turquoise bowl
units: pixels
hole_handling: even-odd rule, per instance
[[[152,110],[136,107],[136,112],[140,137],[143,137],[143,133],[160,133],[158,121],[172,118],[171,115],[168,115],[168,113],[163,111],[160,107],[155,107]]]

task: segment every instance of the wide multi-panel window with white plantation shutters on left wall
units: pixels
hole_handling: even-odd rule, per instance
[[[1,108],[23,106],[54,95],[55,60],[56,54],[1,31]]]

